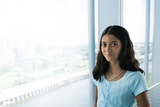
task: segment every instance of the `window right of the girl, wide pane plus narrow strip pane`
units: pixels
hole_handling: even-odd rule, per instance
[[[152,73],[152,41],[153,41],[153,3],[150,4],[150,37],[149,39],[149,62],[148,62],[148,85],[151,85]],[[145,30],[146,30],[146,1],[145,0],[124,0],[123,3],[123,26],[127,28],[133,41],[135,56],[144,70],[145,58]]]

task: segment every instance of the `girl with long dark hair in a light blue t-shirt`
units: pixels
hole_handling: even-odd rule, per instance
[[[144,71],[134,55],[125,28],[115,25],[103,31],[93,69],[93,107],[133,107],[135,100],[138,107],[150,107]]]

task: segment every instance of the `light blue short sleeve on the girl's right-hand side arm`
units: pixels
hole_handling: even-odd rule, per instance
[[[131,85],[132,85],[132,92],[135,96],[139,95],[144,91],[148,91],[148,85],[145,76],[140,72],[135,73]]]

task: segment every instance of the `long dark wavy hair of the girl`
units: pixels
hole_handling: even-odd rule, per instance
[[[121,52],[118,56],[120,67],[123,70],[140,71],[141,73],[144,73],[144,71],[141,68],[139,68],[140,64],[135,58],[133,43],[130,40],[128,31],[121,26],[114,25],[107,27],[101,35],[97,62],[96,66],[93,69],[94,79],[101,81],[101,76],[105,75],[109,68],[109,62],[103,56],[101,50],[101,40],[105,34],[114,35],[122,43]]]

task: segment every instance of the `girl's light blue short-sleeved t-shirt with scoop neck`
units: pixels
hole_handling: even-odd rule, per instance
[[[148,91],[144,75],[139,71],[127,71],[118,81],[110,82],[104,75],[101,82],[92,81],[98,88],[97,107],[133,107],[138,94]]]

